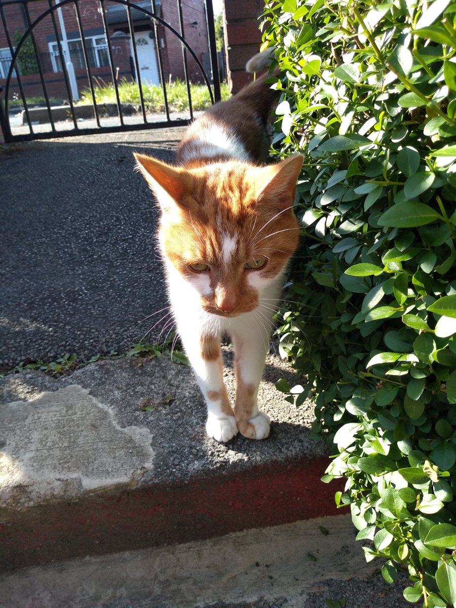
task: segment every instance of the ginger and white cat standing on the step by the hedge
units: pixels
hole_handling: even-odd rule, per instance
[[[250,67],[265,67],[264,57]],[[266,58],[267,64],[268,58]],[[161,209],[159,244],[171,310],[207,404],[217,441],[264,439],[269,418],[257,393],[272,315],[299,227],[292,206],[300,154],[268,159],[268,119],[277,93],[260,78],[213,105],[185,133],[176,166],[135,154]],[[230,336],[237,390],[230,404],[220,340]]]

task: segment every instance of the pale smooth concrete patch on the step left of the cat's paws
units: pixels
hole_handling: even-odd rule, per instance
[[[77,384],[2,406],[0,445],[0,506],[14,508],[135,487],[154,460],[147,428],[120,426]]]

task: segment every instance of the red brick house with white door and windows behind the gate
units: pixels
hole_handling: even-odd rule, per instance
[[[151,0],[135,3],[137,7],[151,11]],[[1,2],[0,2],[1,5]],[[176,0],[155,0],[156,14],[178,33],[180,30],[178,4]],[[131,8],[134,38],[130,38],[128,17],[125,5],[108,1],[103,3],[105,9],[105,24],[100,13],[100,2],[97,0],[78,0],[77,7],[80,15],[81,29],[87,50],[92,81],[108,83],[112,81],[109,60],[108,41],[112,54],[112,71],[117,79],[136,78],[136,65],[133,60],[133,43],[138,52],[139,69],[142,82],[158,84],[161,80],[159,72],[159,55],[162,61],[164,80],[184,78],[181,41],[168,28],[153,20],[142,10]],[[192,47],[199,61],[207,53],[207,26],[204,0],[181,0],[184,38]],[[15,47],[21,35],[30,24],[44,12],[49,10],[47,0],[33,0],[27,7],[20,2],[13,2],[2,7],[7,32],[0,21],[0,86],[5,86],[7,72],[11,64],[9,41]],[[59,15],[58,13],[61,13]],[[68,92],[64,80],[61,55],[57,43],[57,35],[62,44],[60,18],[64,22],[70,57],[75,69],[75,78],[79,91],[89,87],[88,75],[83,57],[83,43],[77,21],[75,3],[69,2],[52,11],[33,27],[36,49],[40,58],[41,69],[44,72],[47,94],[50,97],[67,98]],[[62,44],[64,50],[64,44]],[[26,97],[43,96],[43,86],[38,71],[36,59],[33,59],[33,42],[29,36],[28,43],[22,47],[19,54],[18,69],[20,80]],[[201,82],[202,76],[196,62],[187,52],[188,75],[190,80]],[[147,64],[147,66],[145,65]],[[146,71],[146,69],[148,71]],[[143,71],[144,70],[144,71]],[[19,95],[17,78],[12,78],[9,97]]]

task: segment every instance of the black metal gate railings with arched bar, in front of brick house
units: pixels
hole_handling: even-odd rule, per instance
[[[139,122],[136,120],[136,122],[134,122],[134,123],[126,124],[125,120],[124,120],[123,112],[122,112],[122,103],[120,102],[117,74],[114,71],[113,49],[112,49],[112,43],[111,43],[111,36],[109,35],[108,22],[106,19],[105,0],[94,0],[94,4],[98,5],[98,7],[99,7],[98,12],[102,18],[102,26],[103,26],[103,30],[104,30],[105,38],[106,38],[106,51],[107,51],[108,58],[109,58],[109,61],[108,61],[109,71],[110,71],[112,85],[114,86],[114,90],[115,90],[115,94],[116,94],[117,116],[120,121],[119,125],[102,125],[102,123],[100,122],[100,109],[98,108],[98,103],[97,103],[96,94],[95,94],[95,87],[94,87],[94,78],[96,78],[96,77],[92,74],[94,62],[93,62],[93,58],[90,54],[91,49],[89,49],[86,44],[85,26],[83,25],[83,19],[81,18],[81,10],[80,10],[81,2],[85,2],[85,4],[87,4],[87,0],[60,0],[60,1],[55,0],[55,4],[53,4],[52,0],[47,0],[47,5],[49,6],[49,8],[44,10],[43,13],[41,13],[41,15],[38,16],[38,18],[35,18],[33,21],[30,16],[30,12],[29,12],[29,4],[32,4],[33,2],[35,2],[35,5],[36,5],[36,0],[0,0],[0,20],[1,20],[1,24],[2,24],[4,32],[5,32],[7,44],[9,46],[9,49],[11,52],[11,60],[10,60],[10,65],[9,65],[3,93],[1,93],[1,87],[0,87],[0,94],[1,94],[0,95],[0,126],[1,126],[3,134],[4,134],[5,142],[13,142],[13,141],[17,141],[17,140],[44,139],[44,138],[50,138],[50,137],[74,136],[74,135],[80,135],[80,134],[92,134],[92,133],[99,133],[100,131],[112,133],[115,131],[130,131],[130,130],[139,130],[139,129],[145,129],[145,128],[160,128],[163,126],[178,126],[178,125],[186,124],[188,122],[188,120],[186,120],[186,119],[174,119],[173,120],[173,119],[171,119],[171,116],[170,116],[170,108],[168,105],[168,97],[167,97],[167,87],[166,87],[166,82],[165,82],[165,70],[164,70],[164,64],[163,64],[163,60],[162,60],[162,49],[161,49],[161,44],[159,44],[158,36],[157,36],[157,26],[159,26],[159,25],[161,25],[165,29],[169,30],[172,33],[172,35],[176,36],[176,38],[178,38],[178,40],[181,42],[182,63],[183,63],[183,68],[184,68],[184,79],[185,79],[185,84],[186,84],[186,88],[187,88],[188,110],[189,110],[189,115],[190,115],[189,119],[190,120],[193,119],[193,109],[192,109],[192,95],[190,92],[190,77],[189,77],[189,73],[188,73],[188,55],[190,55],[193,58],[193,61],[195,61],[196,66],[198,66],[198,69],[201,72],[202,79],[204,80],[204,83],[206,84],[207,89],[209,90],[211,102],[212,103],[218,102],[220,100],[220,83],[219,83],[216,42],[215,42],[215,26],[214,26],[214,18],[213,18],[212,0],[204,0],[204,7],[205,7],[205,12],[206,12],[207,40],[208,40],[208,47],[209,47],[210,67],[211,67],[211,72],[212,72],[211,75],[208,75],[206,73],[206,71],[204,70],[204,67],[201,64],[201,61],[199,61],[199,58],[193,51],[192,47],[190,47],[190,45],[185,40],[184,19],[183,19],[183,15],[182,15],[181,0],[170,0],[170,1],[176,1],[176,3],[177,3],[179,31],[176,30],[173,26],[171,26],[171,24],[164,21],[164,19],[162,19],[160,16],[157,15],[156,3],[155,3],[156,0],[151,0],[151,9],[152,10],[148,10],[143,5],[136,4],[135,2],[131,2],[130,0],[109,0],[109,5],[119,4],[119,5],[123,5],[125,7],[126,22],[128,24],[128,32],[130,34],[131,41],[133,41],[133,44],[131,45],[133,47],[133,66],[132,67],[134,67],[134,72],[136,74],[136,79],[137,79],[137,86],[139,87],[139,114],[140,114],[140,117],[139,117]],[[18,41],[18,43],[16,45],[13,44],[13,39],[12,39],[10,30],[8,27],[7,19],[5,16],[5,7],[12,6],[12,5],[15,5],[15,7],[18,7],[18,5],[22,6],[24,19],[27,24],[26,32],[22,35],[21,39]],[[84,66],[85,66],[86,77],[88,79],[88,85],[89,85],[89,89],[91,92],[94,119],[95,119],[95,122],[97,125],[96,127],[82,127],[81,128],[81,126],[78,125],[77,112],[75,111],[76,106],[74,104],[72,86],[71,86],[72,75],[70,73],[69,67],[66,64],[66,61],[64,61],[66,54],[65,54],[65,50],[63,49],[63,44],[62,44],[63,39],[61,41],[61,38],[60,38],[61,35],[63,36],[63,32],[61,33],[57,27],[57,19],[56,19],[56,15],[55,15],[55,13],[58,9],[61,9],[61,7],[64,7],[66,5],[74,5],[74,9],[75,9],[75,19],[77,22],[78,33],[80,35],[80,41],[81,41],[81,48],[78,49],[78,53],[80,53],[82,55]],[[162,94],[163,94],[163,98],[164,98],[165,117],[166,117],[165,120],[154,120],[154,121],[147,120],[147,112],[146,112],[146,105],[145,105],[145,101],[144,101],[144,97],[143,97],[143,88],[142,88],[142,82],[141,82],[141,76],[140,76],[139,61],[138,61],[138,56],[137,56],[136,44],[134,43],[134,31],[135,30],[134,30],[134,24],[133,24],[133,19],[132,19],[132,9],[134,9],[135,11],[139,11],[140,13],[143,13],[144,17],[151,19],[151,21],[153,23],[154,36],[155,36],[155,42],[156,42],[156,52],[157,52],[157,67],[158,67],[159,74],[160,74]],[[49,54],[46,57],[46,54],[41,53],[40,50],[38,49],[38,44],[36,43],[36,38],[35,38],[35,29],[48,16],[50,16],[50,19],[52,20],[52,28],[54,29],[54,33],[55,33],[55,41],[57,43],[58,53],[55,52],[55,53]],[[24,47],[24,43],[29,38],[29,36],[30,36],[30,39],[33,44],[33,49],[35,51],[35,56],[33,57],[33,61],[36,62],[37,74],[38,74],[39,80],[41,82],[41,88],[43,89],[43,94],[44,94],[44,99],[45,99],[44,105],[46,106],[46,109],[47,109],[47,118],[49,119],[49,125],[50,125],[50,129],[47,131],[44,131],[44,132],[41,130],[34,130],[34,128],[33,128],[33,126],[34,126],[33,119],[31,116],[29,103],[27,102],[27,97],[26,97],[26,94],[24,91],[23,77],[21,75],[21,61],[22,60],[19,57],[19,55],[21,54],[21,50]],[[57,130],[55,128],[55,120],[53,117],[52,106],[50,103],[51,96],[49,95],[48,87],[47,87],[47,78],[46,78],[46,69],[45,69],[46,61],[45,60],[47,60],[49,62],[51,55],[54,55],[54,61],[57,60],[57,57],[59,58],[58,69],[61,70],[61,72],[63,72],[64,86],[66,88],[67,99],[69,102],[69,107],[67,108],[67,114],[68,114],[69,119],[73,123],[72,128],[65,129],[65,130]],[[3,60],[4,60],[4,58],[3,58]],[[5,63],[3,63],[2,65],[5,67]],[[61,73],[61,72],[59,72],[59,73]],[[73,77],[74,77],[74,74],[73,74]],[[22,106],[24,108],[25,122],[29,126],[30,133],[13,134],[12,130],[10,128],[9,105],[10,105],[10,92],[11,92],[10,89],[12,88],[13,79],[15,81],[15,83],[14,83],[15,86],[16,85],[18,86],[19,93],[22,98]],[[212,80],[212,83],[211,83],[211,80]],[[2,95],[4,97],[3,102],[1,100]],[[141,119],[141,117],[142,117],[142,119]]]

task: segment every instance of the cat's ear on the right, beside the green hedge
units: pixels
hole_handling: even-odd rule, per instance
[[[286,161],[262,168],[258,198],[274,200],[280,210],[291,207],[303,160],[302,154],[294,154]]]

